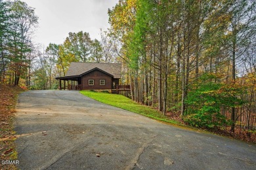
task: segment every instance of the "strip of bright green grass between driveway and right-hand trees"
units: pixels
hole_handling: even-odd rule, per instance
[[[167,123],[174,123],[177,125],[181,125],[181,123],[179,123],[178,121],[174,121],[172,119],[169,119],[169,117],[164,116],[158,110],[155,110],[154,108],[150,108],[148,106],[144,106],[142,104],[138,104],[137,102],[134,102],[130,98],[127,98],[123,95],[100,93],[95,91],[80,91],[80,93],[85,96],[89,96],[90,98],[93,98],[99,102],[109,104],[117,108],[122,108],[124,110],[141,114],[143,116],[150,117],[152,119],[165,121]]]

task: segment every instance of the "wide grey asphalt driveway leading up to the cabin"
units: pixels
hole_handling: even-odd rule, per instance
[[[17,111],[20,169],[256,169],[255,144],[165,125],[78,91],[27,91]]]

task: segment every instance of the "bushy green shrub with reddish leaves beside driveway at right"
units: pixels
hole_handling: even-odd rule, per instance
[[[229,125],[230,121],[221,114],[221,108],[237,107],[243,104],[238,94],[243,93],[240,87],[215,83],[213,75],[204,75],[201,83],[191,89],[186,98],[184,122],[207,129]]]

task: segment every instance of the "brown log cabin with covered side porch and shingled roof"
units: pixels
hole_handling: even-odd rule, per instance
[[[119,85],[120,78],[121,63],[98,62],[72,62],[64,77],[56,77],[60,90],[130,90],[129,85]]]

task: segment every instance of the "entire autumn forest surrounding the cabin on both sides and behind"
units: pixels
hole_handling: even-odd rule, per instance
[[[100,39],[33,42],[35,9],[0,0],[1,84],[57,89],[70,62],[121,62],[131,98],[194,127],[255,133],[256,1],[119,0]],[[86,31],[86,30],[85,30]]]

